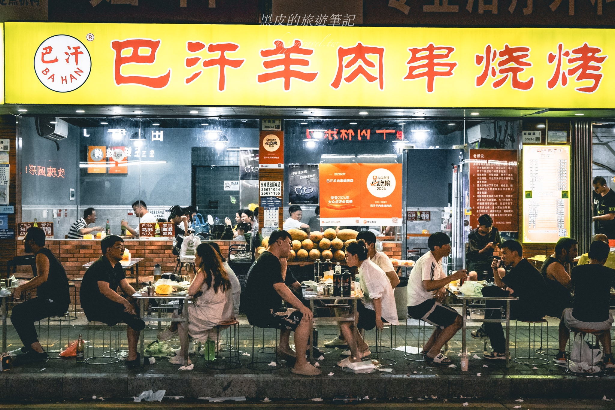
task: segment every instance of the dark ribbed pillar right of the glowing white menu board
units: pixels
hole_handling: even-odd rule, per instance
[[[579,254],[592,242],[592,122],[571,122],[572,201],[571,237],[579,242]]]

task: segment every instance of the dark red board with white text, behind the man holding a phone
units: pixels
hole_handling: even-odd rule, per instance
[[[470,149],[470,228],[489,214],[502,232],[517,232],[517,150]]]

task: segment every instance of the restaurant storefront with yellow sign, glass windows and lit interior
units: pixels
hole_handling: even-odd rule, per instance
[[[77,277],[98,251],[65,239],[70,225],[94,207],[119,234],[143,200],[164,219],[172,205],[220,221],[260,205],[265,237],[291,204],[304,223],[320,207],[323,228],[373,229],[402,266],[443,231],[449,269],[462,267],[480,213],[528,256],[560,236],[589,243],[610,34],[5,23],[4,111],[18,117],[2,125],[15,207],[3,242],[21,254],[18,224],[51,222]],[[380,179],[386,195],[370,189]],[[149,274],[175,267],[170,244],[128,247]]]

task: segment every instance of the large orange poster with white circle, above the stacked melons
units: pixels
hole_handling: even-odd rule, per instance
[[[402,224],[402,164],[320,164],[320,225]]]

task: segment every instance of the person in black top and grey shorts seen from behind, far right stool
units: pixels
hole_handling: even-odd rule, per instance
[[[589,264],[573,267],[571,279],[574,284],[573,307],[564,310],[559,328],[559,351],[556,363],[566,363],[566,344],[570,331],[578,329],[595,332],[604,350],[606,368],[615,368],[611,353],[611,326],[613,315],[609,312],[611,286],[615,270],[606,267],[609,245],[595,240],[589,245]],[[601,333],[600,333],[601,332]]]

